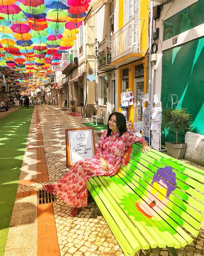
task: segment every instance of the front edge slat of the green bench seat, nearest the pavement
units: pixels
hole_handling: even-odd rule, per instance
[[[115,223],[114,218],[111,216],[108,209],[103,204],[101,198],[97,194],[96,190],[94,189],[94,187],[92,186],[90,181],[87,182],[87,188],[89,189],[89,191],[90,191],[91,195],[93,196],[96,204],[98,205],[101,213],[103,214],[112,233],[114,234],[115,239],[121,246],[121,249],[123,250],[125,256],[133,255],[132,254],[134,252],[133,248],[130,246],[130,243],[127,241],[127,239],[124,236],[124,234],[122,233],[121,229]]]

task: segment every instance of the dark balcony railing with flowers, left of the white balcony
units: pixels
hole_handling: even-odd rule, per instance
[[[111,64],[111,38],[105,38],[98,47],[98,67]]]

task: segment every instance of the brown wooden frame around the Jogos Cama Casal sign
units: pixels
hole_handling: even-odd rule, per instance
[[[95,146],[95,138],[94,138],[94,131],[93,127],[80,127],[80,128],[70,128],[65,129],[65,137],[66,137],[66,166],[71,168],[75,163],[72,163],[72,156],[71,156],[71,142],[69,140],[69,133],[71,131],[91,131],[91,138],[92,138],[92,145],[93,145],[93,156],[96,154],[96,146]],[[86,158],[84,158],[86,159]],[[80,159],[79,159],[80,160]]]

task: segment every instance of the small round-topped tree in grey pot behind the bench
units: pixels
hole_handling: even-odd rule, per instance
[[[182,159],[187,147],[186,143],[178,141],[178,133],[186,133],[192,130],[192,117],[186,109],[164,109],[162,114],[162,125],[174,131],[176,141],[166,142],[167,154],[176,159]]]

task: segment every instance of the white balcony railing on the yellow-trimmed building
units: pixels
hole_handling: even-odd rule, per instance
[[[130,53],[141,53],[140,21],[141,19],[132,18],[111,36],[112,62]]]

